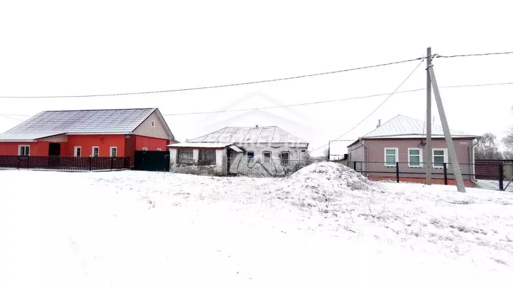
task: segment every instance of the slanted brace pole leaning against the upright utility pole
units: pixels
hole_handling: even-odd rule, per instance
[[[449,160],[454,171],[454,177],[456,178],[456,186],[459,192],[465,192],[465,185],[463,184],[463,176],[461,175],[460,163],[458,162],[458,156],[456,155],[456,148],[450,135],[449,124],[447,123],[447,117],[445,116],[444,106],[442,104],[442,97],[440,96],[440,90],[438,90],[437,78],[435,77],[435,71],[433,71],[433,65],[428,68],[429,76],[431,77],[431,84],[433,86],[433,93],[435,93],[435,100],[437,101],[438,114],[440,115],[440,121],[442,122],[442,128],[444,130],[445,141],[447,142],[447,150],[449,151]],[[431,153],[429,151],[429,153]]]

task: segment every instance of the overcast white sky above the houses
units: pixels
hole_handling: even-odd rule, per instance
[[[425,55],[513,50],[508,1],[6,1],[0,95],[170,90],[289,77]],[[163,114],[243,109],[392,92],[418,63],[189,92],[1,99],[0,131],[42,110],[158,107]],[[440,86],[513,81],[513,55],[435,59]],[[400,90],[425,87],[425,63]],[[451,129],[504,135],[513,85],[441,90]],[[277,125],[324,145],[386,96],[223,115],[167,116],[180,141],[224,126]],[[344,139],[398,114],[423,119],[425,92],[397,94]],[[434,105],[433,99],[433,105]],[[433,115],[438,121],[436,106]],[[344,153],[347,143],[332,148]],[[318,152],[321,152],[319,150]]]

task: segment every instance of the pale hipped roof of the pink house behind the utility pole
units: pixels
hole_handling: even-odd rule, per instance
[[[454,138],[475,138],[462,131],[450,130]],[[431,127],[432,137],[444,137],[443,128],[433,125]],[[374,129],[362,138],[424,138],[426,135],[425,122],[403,115],[397,115],[385,124]]]

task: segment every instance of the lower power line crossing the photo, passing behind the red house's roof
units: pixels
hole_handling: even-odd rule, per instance
[[[440,86],[439,88],[483,87],[483,86],[497,86],[497,85],[513,85],[513,82]],[[418,92],[418,91],[424,91],[424,90],[426,90],[426,88],[418,88],[418,89],[412,89],[412,90],[397,91],[394,94]],[[218,110],[218,111],[205,111],[205,112],[191,112],[191,113],[162,114],[162,116],[198,115],[198,114],[212,114],[212,113],[240,112],[240,111],[251,111],[251,110],[286,108],[286,107],[294,107],[294,106],[306,106],[306,105],[323,104],[323,103],[329,103],[329,102],[339,102],[339,101],[346,101],[346,100],[364,99],[364,98],[379,97],[379,96],[385,96],[385,95],[390,95],[390,93],[372,94],[372,95],[357,96],[357,97],[350,97],[350,98],[331,99],[331,100],[323,100],[323,101],[315,101],[315,102],[305,102],[305,103],[300,103],[300,104],[289,104],[289,105],[280,105],[280,106],[267,106],[267,107],[257,107],[257,108],[234,109],[234,110]],[[1,115],[18,116],[18,117],[29,117],[29,116],[32,116],[32,115],[6,114],[6,113],[1,114]]]

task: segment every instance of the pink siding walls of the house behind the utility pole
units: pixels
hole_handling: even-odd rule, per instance
[[[462,174],[473,174],[473,155],[470,153],[470,146],[472,145],[473,138],[453,138],[455,143],[456,153],[458,155],[458,161],[461,166]],[[351,161],[363,161],[376,162],[357,164],[358,170],[367,171],[367,176],[374,177],[395,177],[396,167],[385,166],[385,148],[397,148],[398,149],[398,162],[400,177],[404,178],[423,178],[425,177],[425,164],[421,168],[408,167],[408,148],[418,148],[421,142],[421,138],[382,138],[382,139],[364,139],[363,144],[367,147],[367,151],[364,151],[364,147],[360,143],[355,143],[349,147],[348,152],[351,154]],[[447,143],[443,138],[435,138],[432,140],[433,149],[447,149]],[[428,153],[432,155],[432,151],[427,151],[425,148],[422,149],[422,161],[427,161]],[[450,163],[450,159],[447,156],[447,160]],[[368,166],[368,167],[366,167]],[[453,173],[450,165],[447,167],[447,173]],[[389,172],[389,173],[384,173]],[[418,173],[418,174],[416,174]],[[432,168],[433,178],[443,178],[443,169]],[[437,174],[440,173],[440,174]],[[449,179],[453,178],[452,175],[448,176]],[[470,180],[471,176],[463,175],[465,180]]]

